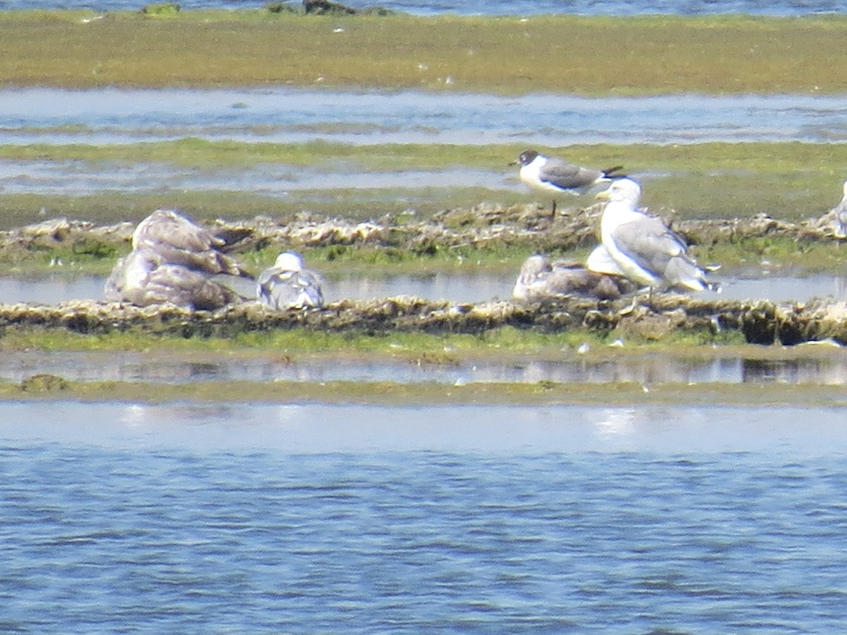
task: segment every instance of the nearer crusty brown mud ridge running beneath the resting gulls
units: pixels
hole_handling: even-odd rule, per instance
[[[361,334],[396,331],[484,334],[512,326],[541,332],[585,330],[662,340],[680,332],[713,335],[739,331],[756,344],[794,345],[813,340],[847,343],[847,303],[816,301],[695,300],[687,295],[645,294],[617,301],[567,298],[549,303],[490,301],[457,305],[397,296],[374,301],[340,301],[323,309],[276,312],[257,302],[216,312],[176,306],[140,308],[120,303],[69,301],[57,306],[0,306],[0,336],[8,329],[68,329],[80,334],[135,331],[182,337],[227,337],[269,329],[314,329]]]

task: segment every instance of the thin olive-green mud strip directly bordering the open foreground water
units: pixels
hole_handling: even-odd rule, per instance
[[[645,389],[640,384],[538,384],[479,383],[395,384],[390,382],[209,382],[191,385],[136,384],[128,382],[68,382],[52,375],[37,375],[21,384],[0,382],[0,400],[174,401],[234,403],[329,403],[415,405],[704,405],[844,406],[841,386],[791,386],[783,384],[661,384]]]

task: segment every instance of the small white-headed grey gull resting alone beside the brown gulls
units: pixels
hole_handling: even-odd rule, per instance
[[[256,299],[274,309],[324,306],[323,280],[296,251],[281,253],[257,280]]]

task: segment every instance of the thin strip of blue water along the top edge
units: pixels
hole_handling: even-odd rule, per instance
[[[294,4],[296,2],[292,2]],[[0,9],[13,8],[92,8],[95,10],[133,11],[145,4],[143,0],[65,0],[63,2],[38,2],[38,0],[3,0]],[[265,2],[239,2],[239,0],[180,0],[180,7],[191,8],[262,8]],[[412,14],[586,14],[586,15],[636,15],[636,14],[726,14],[745,13],[761,15],[807,15],[817,13],[843,13],[844,0],[349,0],[350,7],[381,7]]]

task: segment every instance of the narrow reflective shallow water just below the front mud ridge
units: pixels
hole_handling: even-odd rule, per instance
[[[625,347],[625,344],[624,344]],[[595,351],[596,352],[596,351]],[[0,357],[0,381],[22,382],[40,373],[70,381],[120,381],[151,384],[202,384],[247,381],[326,383],[336,381],[400,384],[474,383],[562,384],[634,383],[646,388],[682,384],[847,385],[847,355],[760,359],[732,357],[685,358],[657,354],[583,359],[562,351],[559,360],[531,358],[473,359],[454,363],[421,363],[401,349],[394,358],[358,356],[352,359],[278,357],[232,358],[149,356],[143,353],[73,351],[7,352]]]

